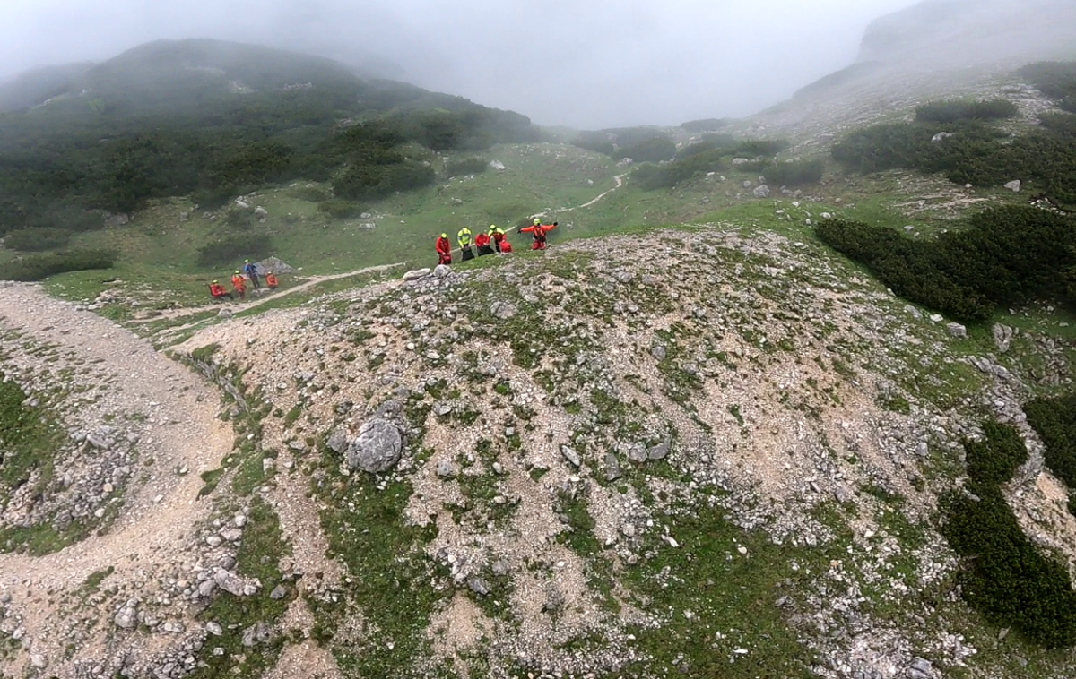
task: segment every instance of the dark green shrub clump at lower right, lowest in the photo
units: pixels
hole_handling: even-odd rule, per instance
[[[1046,648],[1076,644],[1076,592],[1067,568],[1028,539],[1002,494],[1028,457],[1010,427],[987,423],[983,442],[965,442],[968,491],[943,500],[942,534],[963,558],[961,593],[991,623]]]

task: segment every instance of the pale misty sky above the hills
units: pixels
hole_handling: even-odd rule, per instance
[[[851,63],[915,0],[0,0],[0,76],[220,38],[351,62],[540,125],[742,116]]]

